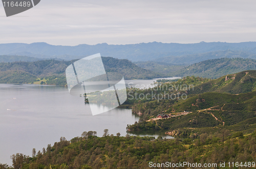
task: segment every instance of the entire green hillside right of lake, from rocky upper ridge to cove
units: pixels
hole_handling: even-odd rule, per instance
[[[141,93],[145,95],[145,93],[153,91],[153,94],[156,95],[168,94],[176,97],[174,99],[164,98],[160,100],[137,99],[133,103],[132,110],[134,113],[142,114],[143,119],[137,124],[130,125],[128,129],[131,131],[177,130],[179,128],[221,126],[230,130],[231,125],[239,125],[239,123],[244,125],[246,121],[256,117],[255,77],[256,71],[254,70],[226,75],[215,80],[192,76],[172,83],[162,83],[158,89],[156,87],[157,90],[138,91],[137,95]],[[165,88],[165,86],[178,85],[194,85],[194,90],[193,88],[190,88],[190,90],[177,88],[178,90],[170,91],[170,88]],[[182,99],[178,94],[180,96],[185,94],[186,99]],[[161,113],[176,115],[178,112],[183,111],[188,111],[190,114],[167,120],[146,122],[146,120],[154,118]],[[256,125],[251,126],[250,132],[254,129],[256,129]],[[245,130],[242,131],[245,132]]]

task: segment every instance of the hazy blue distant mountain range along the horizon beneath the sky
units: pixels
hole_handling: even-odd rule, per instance
[[[211,51],[225,51],[234,50],[245,52],[246,57],[254,57],[256,54],[256,42],[241,42],[241,43],[225,43],[225,42],[200,42],[194,44],[179,44],[179,43],[139,43],[127,45],[108,45],[106,43],[97,45],[81,44],[77,46],[55,46],[47,43],[9,43],[0,44],[0,55],[27,55],[35,58],[59,58],[65,60],[80,59],[84,56],[101,53],[103,57],[113,57],[118,59],[128,59],[130,61],[150,61],[159,58],[161,62],[163,57],[174,58],[168,61],[172,64],[191,64],[200,62],[209,58],[212,55],[209,53],[207,58],[204,56],[200,59],[194,60],[198,53],[206,53]],[[214,53],[212,53],[214,54]],[[190,55],[184,57],[184,55]],[[240,57],[244,58],[242,55]],[[177,56],[183,56],[181,58]],[[230,55],[232,57],[232,53]],[[190,62],[188,62],[190,58]],[[217,57],[221,58],[221,56]],[[179,62],[174,62],[175,60]],[[202,60],[203,59],[203,60]],[[164,61],[165,62],[165,61]]]

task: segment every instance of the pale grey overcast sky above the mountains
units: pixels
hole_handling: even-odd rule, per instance
[[[256,1],[41,0],[6,17],[0,43],[53,45],[256,41]]]

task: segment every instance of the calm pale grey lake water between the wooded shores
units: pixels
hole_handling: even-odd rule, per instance
[[[156,80],[127,82],[143,88]],[[127,124],[138,120],[139,116],[132,114],[131,109],[120,108],[92,116],[84,98],[70,95],[65,87],[0,84],[0,162],[11,165],[12,154],[31,156],[33,148],[42,151],[61,136],[70,140],[83,131],[97,131],[97,136],[102,136],[103,130],[109,129],[110,134],[120,132],[125,136]],[[172,138],[157,132],[129,134]]]

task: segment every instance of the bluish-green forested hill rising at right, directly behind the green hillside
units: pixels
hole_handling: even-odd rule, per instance
[[[221,58],[196,63],[170,72],[170,76],[200,76],[219,78],[226,74],[238,73],[245,70],[256,70],[256,60],[242,58]]]

